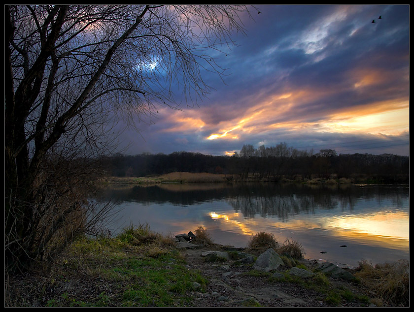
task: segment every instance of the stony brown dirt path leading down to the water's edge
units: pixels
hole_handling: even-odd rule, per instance
[[[251,266],[232,265],[231,261],[205,262],[201,256],[205,247],[186,250],[186,262],[190,270],[199,270],[210,282],[207,292],[196,292],[198,307],[328,307],[326,295],[292,282],[270,281],[269,276],[248,275]],[[303,260],[308,267],[315,261]],[[337,286],[361,292],[355,285],[345,281],[332,281]],[[357,307],[358,304],[343,302],[344,307]]]

